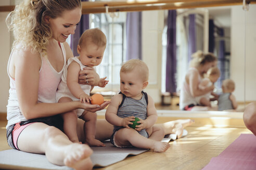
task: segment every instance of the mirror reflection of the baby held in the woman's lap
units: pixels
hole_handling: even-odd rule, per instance
[[[211,67],[208,70],[208,72],[206,73],[206,77],[203,78],[201,80],[201,82],[199,83],[199,85],[198,85],[199,89],[203,90],[207,87],[212,86],[212,84],[214,82],[216,82],[217,79],[219,79],[220,75],[221,75],[221,72],[220,72],[219,68]],[[207,94],[204,94],[204,95],[201,95],[201,96],[197,96],[196,97],[197,103],[199,103],[202,106],[211,107],[210,95],[211,95],[211,92],[209,92]]]

